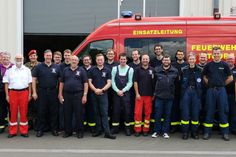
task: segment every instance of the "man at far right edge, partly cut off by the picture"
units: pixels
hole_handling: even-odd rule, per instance
[[[229,68],[233,74],[233,78],[234,80],[232,82],[230,82],[230,84],[228,84],[226,86],[226,91],[228,94],[228,101],[229,101],[229,129],[230,132],[233,134],[236,134],[236,86],[235,86],[235,81],[236,81],[236,66],[235,66],[235,55],[234,53],[228,54],[227,58],[226,58],[226,62],[229,65]]]

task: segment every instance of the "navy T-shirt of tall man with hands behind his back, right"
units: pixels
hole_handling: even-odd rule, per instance
[[[208,87],[224,87],[231,71],[227,63],[211,61],[204,67],[202,74],[208,78]]]

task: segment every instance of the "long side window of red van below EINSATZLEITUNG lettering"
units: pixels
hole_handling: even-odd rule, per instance
[[[129,38],[125,39],[125,51],[129,57],[133,49],[138,49],[141,53],[146,52],[152,58],[154,57],[154,45],[163,46],[164,53],[169,54],[174,60],[177,50],[186,50],[185,38]]]

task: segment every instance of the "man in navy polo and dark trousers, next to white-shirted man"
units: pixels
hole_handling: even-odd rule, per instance
[[[49,110],[50,127],[53,136],[58,136],[58,98],[57,98],[57,85],[60,76],[58,65],[52,63],[52,51],[44,51],[45,61],[35,67],[32,72],[32,97],[34,100],[39,99],[38,105],[38,127],[37,137],[43,136],[43,131],[47,124],[46,114]],[[38,92],[36,90],[36,82]]]

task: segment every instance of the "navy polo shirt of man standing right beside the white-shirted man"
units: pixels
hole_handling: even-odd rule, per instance
[[[39,88],[56,88],[60,77],[59,66],[54,63],[50,66],[40,63],[32,71],[32,76],[37,78]]]

